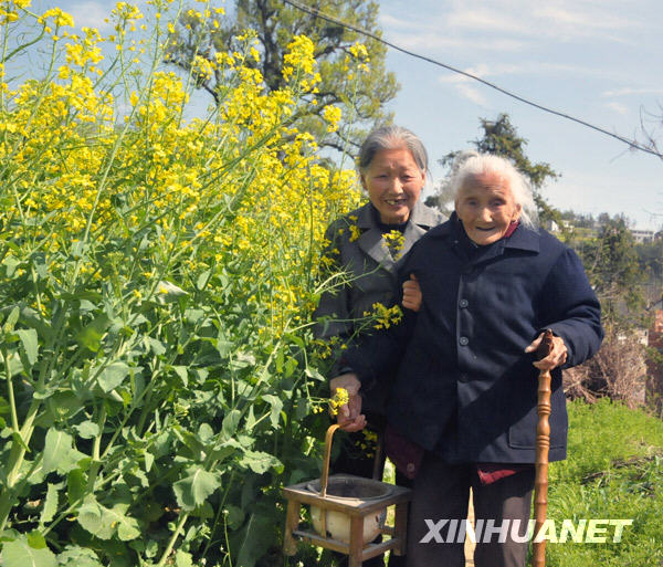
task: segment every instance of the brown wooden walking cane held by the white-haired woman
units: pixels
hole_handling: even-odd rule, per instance
[[[536,359],[546,358],[552,350],[552,330],[545,330],[544,338],[536,349]],[[541,370],[538,379],[538,422],[536,426],[536,479],[534,481],[534,559],[533,567],[546,567],[546,540],[536,536],[546,521],[548,506],[548,450],[550,449],[550,370]]]

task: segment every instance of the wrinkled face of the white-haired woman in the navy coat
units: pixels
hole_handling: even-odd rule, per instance
[[[487,172],[467,179],[456,196],[455,211],[467,237],[486,245],[504,237],[511,222],[520,216],[520,206],[506,181]]]

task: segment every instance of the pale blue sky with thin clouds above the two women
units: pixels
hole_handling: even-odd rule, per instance
[[[139,2],[143,3],[143,2]],[[663,149],[661,0],[381,0],[385,39],[494,82],[624,137],[650,120]],[[72,13],[76,27],[103,27],[114,2],[35,0]],[[221,4],[223,6],[223,4]],[[536,111],[452,72],[390,51],[401,91],[397,124],[424,140],[436,160],[480,136],[480,117],[506,112],[535,161],[561,178],[544,190],[560,209],[624,213],[636,228],[663,225],[663,161],[577,124]]]

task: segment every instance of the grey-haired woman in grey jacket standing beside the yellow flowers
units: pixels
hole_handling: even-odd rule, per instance
[[[361,146],[358,169],[369,202],[333,222],[326,232],[330,272],[344,271],[347,282],[323,294],[315,313],[316,335],[335,343],[336,351],[361,334],[361,319],[373,312],[375,304],[394,304],[400,262],[414,242],[443,220],[420,202],[428,155],[410,130],[399,126],[372,130]],[[417,309],[420,302],[415,281],[406,282],[402,305]],[[376,409],[383,400],[373,401]],[[362,448],[367,444],[361,432],[352,433],[334,472],[370,477],[373,458],[370,449]],[[382,558],[366,565],[382,565]]]

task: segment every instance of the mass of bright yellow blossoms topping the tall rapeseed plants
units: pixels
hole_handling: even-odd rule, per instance
[[[314,308],[311,287],[326,225],[359,200],[355,174],[320,166],[315,139],[288,124],[305,104],[298,96],[319,82],[314,44],[293,40],[284,57],[290,86],[275,92],[265,92],[249,64],[259,56],[251,35],[244,53],[197,59],[193,74],[219,72],[227,86],[207,116],[188,119],[194,81],[159,67],[161,51],[151,54],[151,72],[145,60],[127,56],[144,49],[136,21],[168,35],[173,21],[158,4],[147,4],[150,15],[119,2],[107,36],[92,29],[57,41],[44,35],[34,49],[53,53],[52,72],[22,84],[2,82],[2,191],[13,207],[0,212],[0,222],[51,266],[63,265],[61,255],[74,245],[155,231],[154,265],[108,254],[99,266],[82,254],[75,272],[57,277],[101,284],[117,270],[123,279],[139,279],[127,284],[127,296],[140,302],[158,294],[159,265],[177,266],[178,277],[169,277],[176,282],[197,282],[201,273],[232,265],[236,288],[245,290],[236,301],[265,313],[260,333],[282,334]],[[2,9],[24,6],[3,2]],[[19,17],[27,19],[25,30],[30,18],[73,24],[57,9]],[[105,57],[104,44],[122,49]],[[329,107],[329,123],[336,126],[339,114]]]

